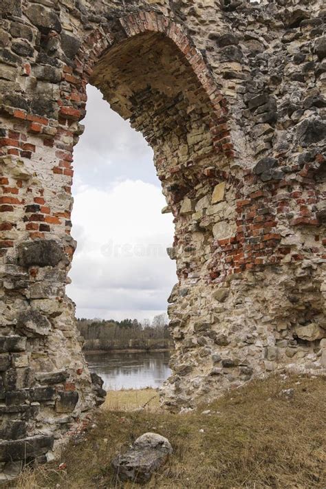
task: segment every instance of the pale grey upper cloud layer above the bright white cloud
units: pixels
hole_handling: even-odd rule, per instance
[[[98,89],[89,85],[87,97],[85,132],[74,149],[74,188],[89,184],[105,189],[127,178],[158,185],[153,151],[142,135],[110,109]]]

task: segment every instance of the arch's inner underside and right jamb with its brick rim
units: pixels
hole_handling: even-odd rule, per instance
[[[86,86],[91,83],[153,149],[167,203],[165,211],[173,214],[175,224],[173,246],[169,248],[178,277],[169,297],[177,348],[172,361],[177,371],[174,380],[180,372],[184,375],[194,369],[200,375],[202,367],[191,351],[195,321],[199,316],[205,320],[209,314],[199,304],[200,287],[216,276],[208,259],[213,220],[198,221],[202,221],[202,211],[211,199],[224,199],[224,169],[232,157],[225,103],[202,55],[177,25],[146,12],[119,19],[110,29],[110,34],[93,32],[80,48],[72,96],[77,91],[84,94],[76,104],[82,116]],[[213,197],[219,185],[218,195]],[[202,199],[205,202],[197,205]],[[229,234],[232,231],[228,230]],[[186,337],[189,341],[184,347]]]

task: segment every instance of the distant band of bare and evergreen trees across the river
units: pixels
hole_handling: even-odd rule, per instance
[[[77,319],[80,335],[85,343],[83,349],[172,349],[173,340],[168,328],[168,317],[159,314],[150,322],[145,319],[140,323],[137,319]]]

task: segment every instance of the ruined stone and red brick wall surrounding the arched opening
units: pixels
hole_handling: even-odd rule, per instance
[[[175,221],[163,404],[325,369],[322,3],[1,1],[0,479],[102,402],[65,295],[87,83],[153,147]]]

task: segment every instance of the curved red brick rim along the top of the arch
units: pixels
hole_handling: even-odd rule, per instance
[[[184,62],[191,67],[193,75],[206,97],[206,105],[210,111],[209,127],[213,138],[213,148],[217,153],[224,153],[227,157],[233,157],[226,99],[219,92],[201,52],[193,45],[182,26],[157,12],[135,12],[125,17],[119,17],[115,21],[101,25],[92,31],[80,46],[74,59],[74,66],[65,69],[64,79],[71,83],[72,94],[76,94],[76,91],[80,93],[81,90],[84,93],[83,102],[85,102],[85,87],[89,83],[94,67],[101,56],[124,41],[146,32],[162,34],[166,39],[172,41],[173,45],[184,56]],[[83,117],[85,103],[82,102],[81,107],[74,110],[73,98],[72,95],[71,106],[63,105],[61,107],[61,118],[78,119]]]

